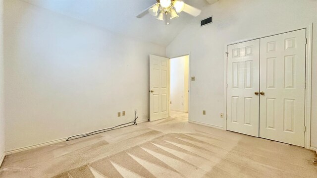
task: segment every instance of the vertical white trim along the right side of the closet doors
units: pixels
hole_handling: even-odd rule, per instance
[[[306,89],[305,89],[305,148],[311,147],[311,117],[312,117],[312,35],[313,24],[306,28]]]

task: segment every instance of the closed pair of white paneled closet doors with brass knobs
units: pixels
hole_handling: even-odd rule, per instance
[[[306,30],[227,47],[227,130],[304,146]]]

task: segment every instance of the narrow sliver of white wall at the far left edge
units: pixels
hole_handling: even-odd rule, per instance
[[[0,0],[0,166],[4,153],[4,110],[3,110],[3,0]]]

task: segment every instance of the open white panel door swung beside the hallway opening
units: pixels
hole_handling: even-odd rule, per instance
[[[169,59],[150,55],[150,121],[169,117]]]

